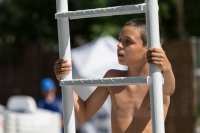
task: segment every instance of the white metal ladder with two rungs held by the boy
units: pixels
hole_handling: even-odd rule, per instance
[[[58,23],[58,38],[60,58],[71,61],[71,46],[69,33],[69,19],[90,18],[100,16],[112,16],[122,14],[146,14],[147,42],[148,47],[160,48],[158,1],[146,0],[143,4],[97,8],[89,10],[68,11],[67,0],[56,0],[57,13],[55,18]],[[71,62],[70,62],[71,63]],[[63,75],[60,85],[62,86],[62,100],[64,113],[65,133],[75,133],[73,86],[74,85],[129,85],[150,84],[150,101],[153,133],[164,133],[162,75],[160,69],[149,65],[149,77],[124,77],[104,79],[72,79],[72,73]]]

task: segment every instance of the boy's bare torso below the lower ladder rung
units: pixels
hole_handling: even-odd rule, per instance
[[[116,73],[117,74],[117,73]],[[123,77],[120,72],[116,77]],[[108,87],[112,101],[113,133],[151,133],[151,109],[148,85]],[[164,96],[164,116],[169,107],[169,96]]]

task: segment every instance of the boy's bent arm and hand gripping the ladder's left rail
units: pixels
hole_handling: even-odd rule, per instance
[[[65,59],[58,59],[54,66],[54,72],[58,80],[60,80],[62,74],[68,74],[71,71],[70,64]],[[109,72],[104,77],[108,77]],[[107,87],[99,86],[97,89],[88,97],[86,101],[81,99],[76,92],[74,95],[74,108],[75,117],[78,123],[83,124],[87,122],[103,105],[107,99],[109,92]]]

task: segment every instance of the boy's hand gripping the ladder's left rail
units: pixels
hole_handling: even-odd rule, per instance
[[[54,72],[55,72],[56,78],[58,80],[61,80],[61,76],[63,74],[69,74],[71,72],[71,70],[72,70],[71,69],[71,65],[68,63],[68,60],[66,60],[66,59],[58,59],[55,62]]]

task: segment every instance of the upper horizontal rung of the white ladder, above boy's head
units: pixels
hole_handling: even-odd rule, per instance
[[[138,5],[126,5],[126,6],[116,6],[107,8],[96,8],[78,11],[68,11],[68,12],[58,12],[55,14],[55,18],[69,17],[70,19],[80,19],[80,18],[92,18],[92,17],[102,17],[102,16],[113,16],[113,15],[123,15],[123,14],[136,14],[145,13],[146,4]]]

